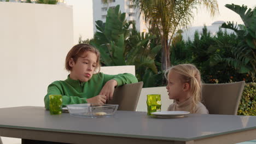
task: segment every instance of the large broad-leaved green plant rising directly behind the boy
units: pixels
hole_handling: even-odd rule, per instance
[[[92,45],[101,52],[102,62],[106,65],[126,65],[125,40],[129,37],[131,22],[126,22],[125,13],[121,13],[119,7],[108,9],[106,23],[96,21],[98,31]]]

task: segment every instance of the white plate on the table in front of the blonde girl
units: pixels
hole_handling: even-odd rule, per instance
[[[157,117],[184,117],[184,115],[188,115],[189,113],[188,111],[157,111],[151,114]]]

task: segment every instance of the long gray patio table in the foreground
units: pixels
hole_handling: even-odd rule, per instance
[[[82,118],[21,106],[0,109],[0,135],[67,143],[237,143],[256,139],[256,117],[155,118],[146,112],[117,111],[114,117]]]

